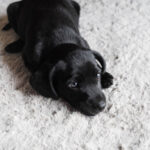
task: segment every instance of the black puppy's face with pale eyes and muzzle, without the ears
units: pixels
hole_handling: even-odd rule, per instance
[[[105,108],[101,85],[102,68],[91,51],[74,51],[55,72],[54,86],[58,95],[86,115]]]

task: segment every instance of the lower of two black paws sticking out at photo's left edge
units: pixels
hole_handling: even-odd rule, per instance
[[[6,48],[5,51],[8,53],[18,53],[20,51],[22,51],[24,46],[24,42],[19,39],[11,44],[9,44]]]

